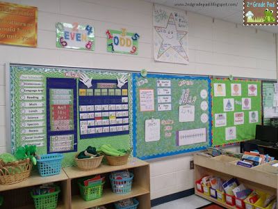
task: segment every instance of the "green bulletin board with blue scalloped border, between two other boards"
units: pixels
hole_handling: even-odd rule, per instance
[[[211,146],[208,77],[133,74],[133,155],[142,160]]]

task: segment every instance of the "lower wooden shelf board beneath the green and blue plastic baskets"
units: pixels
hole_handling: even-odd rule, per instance
[[[84,201],[80,195],[72,196],[72,209],[90,208],[95,206],[102,206],[122,199],[128,199],[135,196],[149,194],[149,190],[140,187],[139,185],[132,185],[131,192],[127,194],[115,194],[111,188],[104,189],[103,196],[92,201]]]

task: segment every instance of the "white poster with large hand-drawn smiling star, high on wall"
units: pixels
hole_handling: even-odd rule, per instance
[[[188,64],[188,18],[179,12],[154,4],[154,60]]]

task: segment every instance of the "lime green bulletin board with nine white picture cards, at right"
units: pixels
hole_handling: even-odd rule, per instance
[[[254,139],[261,124],[261,82],[213,79],[213,146]]]

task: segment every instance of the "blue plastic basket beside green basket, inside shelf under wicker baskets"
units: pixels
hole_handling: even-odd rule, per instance
[[[111,176],[112,175],[110,175],[109,178],[114,193],[126,194],[131,192],[133,173],[129,173],[130,178],[124,178],[124,179],[113,179],[111,178]]]

